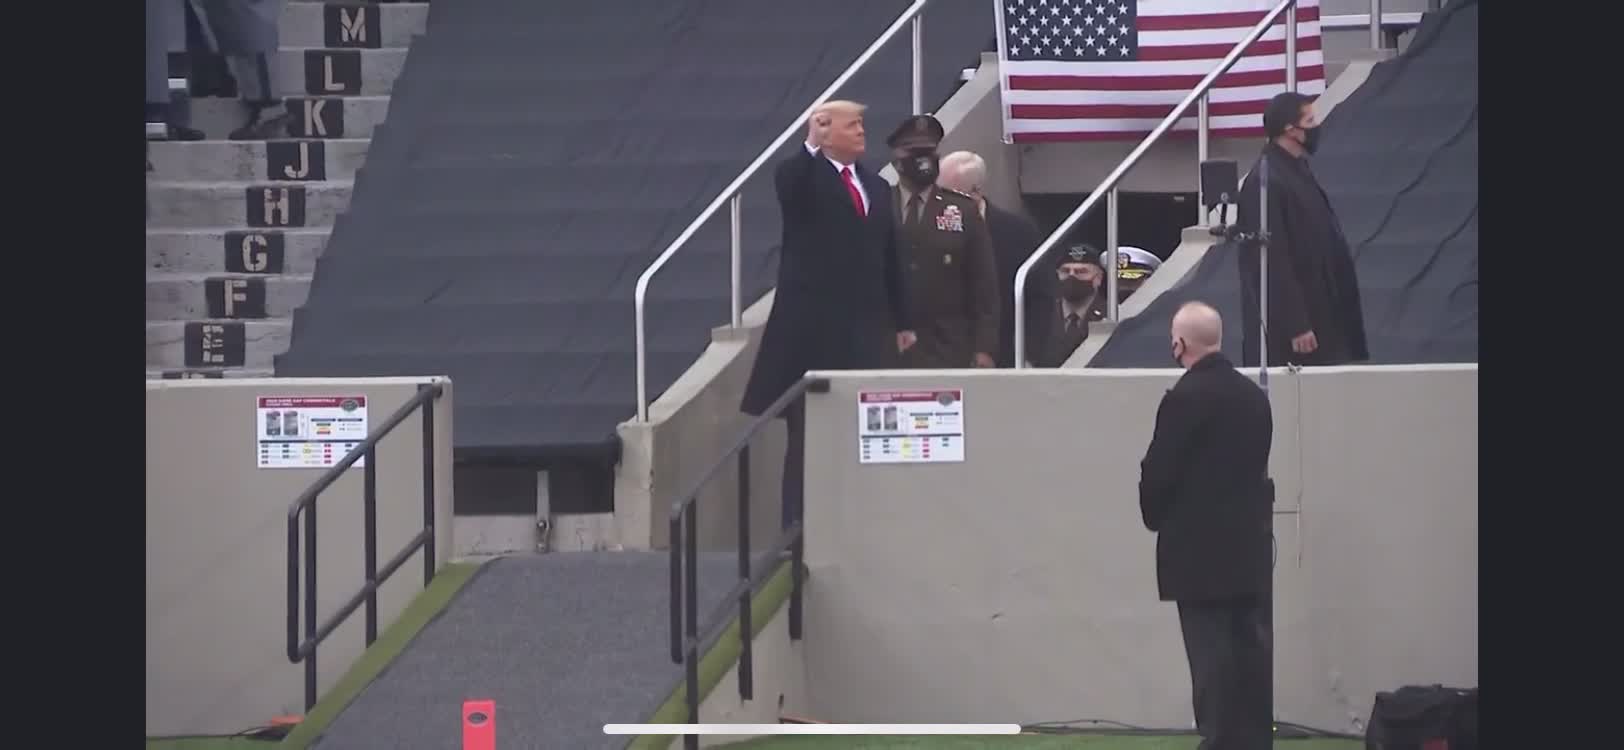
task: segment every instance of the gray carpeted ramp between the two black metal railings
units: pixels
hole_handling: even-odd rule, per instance
[[[732,555],[700,558],[700,617],[736,583]],[[603,734],[669,695],[664,552],[562,552],[490,563],[333,721],[317,748],[461,745],[464,700],[494,700],[497,747],[625,747]]]

